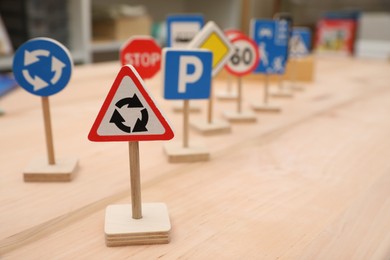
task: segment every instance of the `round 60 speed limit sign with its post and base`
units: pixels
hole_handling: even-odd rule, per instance
[[[242,79],[241,77],[251,73],[259,63],[259,53],[256,44],[244,35],[235,34],[230,39],[235,52],[226,63],[229,73],[238,77],[237,111],[225,112],[224,116],[231,122],[256,122],[256,116],[252,112],[242,111]]]

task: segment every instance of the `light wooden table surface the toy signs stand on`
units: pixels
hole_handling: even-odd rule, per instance
[[[171,242],[108,248],[105,207],[130,203],[127,144],[87,134],[118,71],[77,67],[50,98],[56,156],[80,160],[70,183],[23,182],[29,161],[46,155],[40,99],[21,89],[0,99],[2,259],[390,259],[388,62],[318,58],[313,84],[271,100],[282,113],[231,134],[191,131],[209,162],[169,164],[163,142],[140,143],[142,201],[167,204]],[[180,141],[182,115],[160,78],[146,84]],[[246,109],[262,90],[244,81]],[[206,102],[196,102],[203,111],[190,120],[205,120]],[[216,101],[215,117],[235,107]]]

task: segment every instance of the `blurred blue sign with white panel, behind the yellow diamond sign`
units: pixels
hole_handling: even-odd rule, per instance
[[[204,24],[202,15],[178,14],[167,17],[167,47],[187,47]]]

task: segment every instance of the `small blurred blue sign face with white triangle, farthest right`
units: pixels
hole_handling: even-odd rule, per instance
[[[310,29],[304,27],[293,28],[289,46],[290,57],[300,58],[309,55],[311,47]]]

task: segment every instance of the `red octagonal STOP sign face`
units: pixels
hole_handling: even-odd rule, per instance
[[[131,64],[141,78],[153,77],[161,66],[161,48],[149,36],[131,37],[120,50],[122,66]]]

